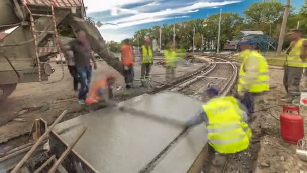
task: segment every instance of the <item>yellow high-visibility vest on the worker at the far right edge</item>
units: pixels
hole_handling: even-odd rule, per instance
[[[302,59],[300,58],[301,48],[303,46],[303,42],[306,40],[307,39],[301,38],[298,42],[296,42],[288,55],[286,62],[287,66],[301,68],[307,67],[307,61],[302,61]]]

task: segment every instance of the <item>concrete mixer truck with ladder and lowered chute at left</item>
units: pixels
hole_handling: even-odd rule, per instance
[[[48,77],[55,71],[52,57],[60,51],[57,40],[62,30],[71,35],[85,31],[94,52],[122,74],[119,59],[108,52],[98,29],[86,20],[85,9],[83,0],[0,1],[0,32],[16,27],[0,40],[0,101],[18,83],[57,82]]]

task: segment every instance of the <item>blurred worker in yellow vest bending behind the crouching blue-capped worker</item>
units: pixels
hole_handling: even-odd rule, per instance
[[[242,65],[239,72],[238,98],[251,114],[254,112],[254,97],[269,91],[269,70],[266,59],[257,51],[245,49],[240,54]]]

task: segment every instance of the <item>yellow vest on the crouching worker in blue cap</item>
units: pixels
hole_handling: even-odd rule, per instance
[[[206,126],[209,145],[222,154],[233,154],[248,148],[251,129],[243,122],[240,115],[243,111],[239,111],[234,97],[211,99],[202,108],[209,119]]]

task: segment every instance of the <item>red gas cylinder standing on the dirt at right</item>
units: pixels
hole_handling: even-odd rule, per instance
[[[297,114],[294,114],[297,112]],[[298,106],[283,106],[279,116],[281,137],[284,141],[296,144],[304,137],[304,121],[299,115]]]

